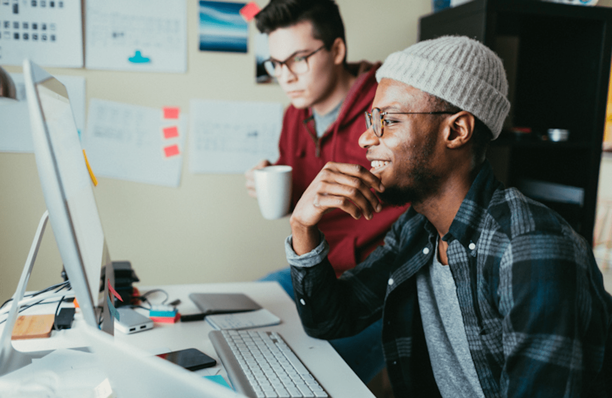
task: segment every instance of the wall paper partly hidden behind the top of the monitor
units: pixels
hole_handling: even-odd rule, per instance
[[[18,101],[6,101],[0,106],[0,152],[34,153],[23,73],[9,74],[15,82]],[[81,134],[85,129],[85,78],[63,75],[56,78],[66,86],[76,128]]]

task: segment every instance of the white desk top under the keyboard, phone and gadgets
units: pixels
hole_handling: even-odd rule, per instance
[[[188,298],[190,293],[245,293],[282,320],[280,325],[259,329],[279,332],[332,398],[374,397],[326,340],[313,339],[305,334],[294,302],[275,282],[138,286],[141,293],[154,288],[160,288],[168,293],[167,302],[181,299],[181,304],[177,306],[181,314],[199,312],[195,304]],[[149,296],[154,304],[159,304],[163,298],[165,295],[162,293],[154,293]],[[80,322],[83,321],[75,318],[72,329],[54,331],[49,339],[13,341],[13,347],[21,351],[36,351],[86,346],[87,342],[78,333]],[[134,334],[115,331],[115,336],[116,339],[148,351],[160,352],[160,348],[179,350],[194,347],[218,361],[217,353],[208,339],[208,332],[211,330],[212,327],[206,321],[178,322],[167,325],[155,323],[155,327],[147,331]],[[224,370],[223,375],[225,376]]]

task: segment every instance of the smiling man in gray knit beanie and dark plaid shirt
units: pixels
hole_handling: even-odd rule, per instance
[[[285,242],[305,331],[351,336],[383,319],[395,397],[610,397],[612,296],[587,242],[506,189],[485,160],[510,104],[498,56],[446,36],[390,54],[359,145],[371,168],[327,163]],[[408,209],[336,277],[321,216]]]

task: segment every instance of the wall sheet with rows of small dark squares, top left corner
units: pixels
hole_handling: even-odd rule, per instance
[[[81,2],[73,0],[0,2],[0,64],[83,67]]]

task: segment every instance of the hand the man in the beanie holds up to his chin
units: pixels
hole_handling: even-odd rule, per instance
[[[297,255],[310,252],[319,244],[316,227],[324,214],[342,209],[354,219],[371,220],[381,211],[378,197],[372,192],[383,192],[380,179],[365,167],[348,163],[328,162],[297,202],[291,214],[293,249]]]

